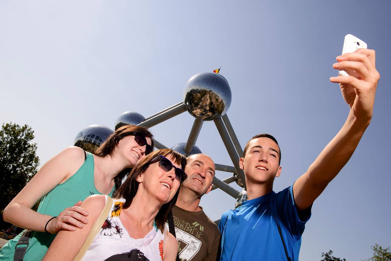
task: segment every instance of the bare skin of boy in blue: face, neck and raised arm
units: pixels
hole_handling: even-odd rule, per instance
[[[328,183],[341,171],[371,122],[377,83],[380,79],[375,61],[374,50],[360,48],[353,53],[338,56],[338,63],[333,64],[333,68],[337,70],[354,70],[359,78],[353,76],[330,78],[331,82],[339,83],[342,97],[349,105],[350,111],[341,130],[308,167],[307,172],[294,182],[292,194],[298,210],[310,207]],[[248,198],[253,199],[272,191],[274,178],[280,176],[281,167],[278,166],[277,157],[274,158],[272,155],[274,150],[279,152],[278,146],[272,140],[258,138],[250,143],[250,152],[244,159],[240,159],[240,167],[246,175]],[[255,151],[255,155],[262,155],[251,156],[254,146],[258,145],[262,150]],[[257,164],[270,167],[258,171],[255,169]]]

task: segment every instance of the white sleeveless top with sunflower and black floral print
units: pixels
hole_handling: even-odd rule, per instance
[[[106,200],[107,200],[106,196]],[[111,213],[103,223],[83,257],[83,261],[161,261],[163,260],[163,241],[154,223],[145,238],[131,238],[120,220],[124,198],[113,199]]]

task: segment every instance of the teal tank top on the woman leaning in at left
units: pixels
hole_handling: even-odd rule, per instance
[[[109,197],[112,196],[114,188],[115,186],[111,190]],[[37,212],[50,216],[58,216],[67,207],[72,207],[79,200],[84,200],[94,194],[101,195],[102,193],[95,188],[94,158],[90,152],[87,152],[87,158],[79,170],[64,183],[58,184],[52,191],[45,195],[39,203]],[[14,239],[9,240],[0,249],[0,261],[13,261],[15,246],[22,233]],[[41,260],[55,237],[56,234],[34,231],[23,261]]]

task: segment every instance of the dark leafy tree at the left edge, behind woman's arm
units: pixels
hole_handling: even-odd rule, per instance
[[[0,130],[0,212],[38,171],[37,144],[31,143],[34,131],[5,123]]]

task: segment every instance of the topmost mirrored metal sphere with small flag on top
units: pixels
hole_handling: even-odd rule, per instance
[[[183,92],[187,111],[195,118],[208,121],[223,116],[231,105],[231,88],[218,73],[198,73],[191,77]]]

